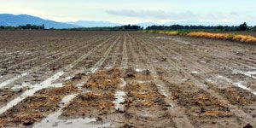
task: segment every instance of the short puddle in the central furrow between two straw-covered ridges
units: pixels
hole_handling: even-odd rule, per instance
[[[121,110],[121,111],[124,110],[125,106],[121,103],[125,102],[125,96],[126,96],[126,94],[122,90],[118,90],[115,92],[115,94],[114,94],[115,101],[113,101],[113,103],[114,103],[114,108],[116,110]]]

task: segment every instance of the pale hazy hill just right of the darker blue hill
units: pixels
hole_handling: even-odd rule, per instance
[[[92,21],[92,20],[79,20],[75,22],[67,22],[68,24],[83,26],[83,27],[102,27],[102,26],[122,26],[122,24],[117,24],[109,21]]]

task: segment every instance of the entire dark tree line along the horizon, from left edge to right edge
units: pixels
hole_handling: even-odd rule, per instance
[[[44,24],[42,26],[36,26],[27,24],[26,26],[0,26],[0,30],[44,30]],[[67,29],[55,29],[49,30],[70,30],[70,31],[138,31],[143,30],[142,26],[137,25],[125,25],[125,26],[106,26],[106,27],[79,27],[79,28],[67,28]],[[209,30],[209,31],[255,31],[256,26],[247,26],[247,23],[243,23],[240,26],[148,26],[146,30]]]

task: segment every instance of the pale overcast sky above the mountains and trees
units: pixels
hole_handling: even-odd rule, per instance
[[[255,5],[256,0],[0,0],[0,13],[35,15],[63,22],[242,22],[256,20]]]

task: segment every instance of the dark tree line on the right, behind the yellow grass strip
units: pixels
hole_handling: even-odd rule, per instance
[[[148,26],[146,30],[213,30],[213,31],[256,31],[256,26],[247,26],[244,22],[240,26]]]

